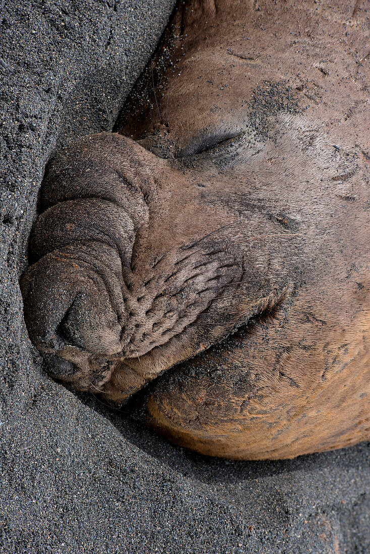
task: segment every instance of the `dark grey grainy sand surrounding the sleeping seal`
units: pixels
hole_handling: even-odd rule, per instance
[[[170,0],[16,2],[0,16],[0,551],[370,552],[370,445],[234,463],[172,447],[45,376],[18,276],[56,145],[110,130]]]

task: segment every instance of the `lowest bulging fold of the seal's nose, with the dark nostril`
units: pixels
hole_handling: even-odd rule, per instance
[[[102,258],[108,258],[110,264]],[[29,335],[46,352],[75,346],[109,355],[119,350],[126,319],[115,250],[72,244],[42,257],[21,279]]]

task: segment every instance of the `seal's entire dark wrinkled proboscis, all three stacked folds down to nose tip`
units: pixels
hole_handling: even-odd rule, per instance
[[[88,137],[55,158],[44,179],[43,211],[29,240],[33,265],[20,285],[29,336],[57,377],[98,371],[128,341],[125,275],[147,213],[139,187],[146,172],[133,145],[112,135]]]

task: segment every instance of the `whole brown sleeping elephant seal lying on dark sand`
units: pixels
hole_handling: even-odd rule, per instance
[[[50,162],[21,289],[71,387],[200,453],[370,439],[366,2],[194,0]]]

